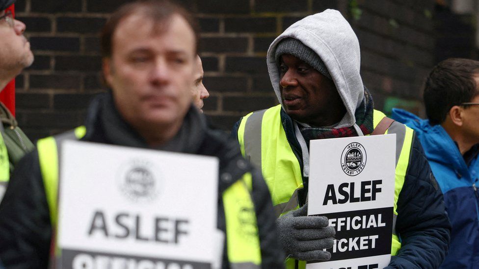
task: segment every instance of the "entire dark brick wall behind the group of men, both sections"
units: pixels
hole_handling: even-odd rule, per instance
[[[100,83],[98,31],[125,0],[17,0],[34,64],[19,75],[17,118],[37,139],[82,123]],[[339,9],[362,49],[362,75],[376,107],[391,100],[419,111],[419,91],[434,65],[434,1],[183,0],[202,29],[205,112],[229,130],[247,112],[277,103],[266,69],[271,41],[298,19]]]

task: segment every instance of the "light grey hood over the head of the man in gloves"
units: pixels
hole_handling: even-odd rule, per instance
[[[354,125],[356,122],[354,112],[364,98],[364,88],[359,74],[361,64],[359,42],[349,23],[339,11],[327,9],[294,23],[271,43],[267,53],[268,72],[274,92],[282,106],[275,51],[278,43],[289,37],[301,41],[317,53],[331,74],[346,106],[346,115],[336,127]]]

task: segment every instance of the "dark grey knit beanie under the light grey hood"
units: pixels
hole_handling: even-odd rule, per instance
[[[312,68],[318,70],[319,73],[332,80],[328,68],[318,56],[318,54],[316,54],[316,52],[314,52],[312,49],[306,47],[306,45],[304,45],[301,41],[289,37],[279,42],[274,53],[274,58],[276,59],[276,63],[278,64],[278,66],[280,64],[279,58],[283,54],[293,55],[294,57],[309,64]]]

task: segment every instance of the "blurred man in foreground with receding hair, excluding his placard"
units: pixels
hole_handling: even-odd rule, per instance
[[[246,190],[251,193],[246,210],[226,210],[223,199],[218,199],[217,227],[226,233],[223,268],[281,268],[265,182],[223,133],[207,127],[192,103],[195,25],[189,13],[166,0],[131,2],[112,14],[101,36],[103,72],[111,92],[92,102],[84,127],[40,140],[38,149],[19,163],[5,193],[0,207],[0,258],[7,268],[48,265],[57,223],[58,163],[52,152],[57,154],[55,145],[67,136],[219,158],[219,197],[235,195],[236,191],[224,193],[232,186],[242,191],[251,188]],[[247,180],[251,177],[252,182]],[[251,223],[255,233],[230,228],[231,221],[240,221],[239,214],[245,211],[256,220]]]

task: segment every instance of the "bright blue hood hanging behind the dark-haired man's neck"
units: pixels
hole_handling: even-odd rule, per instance
[[[416,131],[429,161],[453,167],[456,171],[467,171],[459,148],[440,124],[430,125],[429,120],[397,108],[393,108],[391,118]]]

